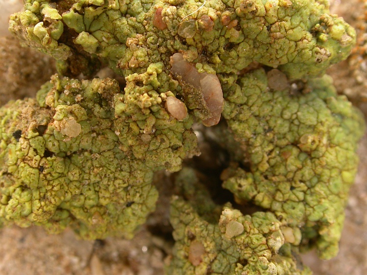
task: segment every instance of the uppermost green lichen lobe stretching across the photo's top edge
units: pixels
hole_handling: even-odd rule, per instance
[[[180,51],[208,72],[256,61],[296,79],[345,59],[355,41],[327,0],[26,0],[24,9],[10,30],[69,74],[98,57],[127,76]]]

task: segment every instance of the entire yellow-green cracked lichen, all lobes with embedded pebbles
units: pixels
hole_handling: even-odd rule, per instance
[[[216,127],[229,160],[218,181],[234,200],[216,204],[192,168],[172,176],[166,274],[310,274],[298,250],[338,252],[364,131],[361,113],[321,77],[355,43],[328,8],[25,0],[9,29],[54,57],[59,74],[36,99],[0,108],[0,225],[132,237],[155,209],[154,172],[200,154],[197,122]],[[93,79],[106,65],[125,82]]]

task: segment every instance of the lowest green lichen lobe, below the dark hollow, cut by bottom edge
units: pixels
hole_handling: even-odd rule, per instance
[[[310,275],[298,262],[297,248],[284,237],[282,223],[271,212],[243,215],[230,204],[215,206],[194,170],[180,172],[183,195],[172,199],[171,224],[176,241],[166,274],[175,275]],[[198,192],[207,202],[192,199]],[[207,216],[215,217],[208,220]],[[229,235],[233,224],[240,227]]]

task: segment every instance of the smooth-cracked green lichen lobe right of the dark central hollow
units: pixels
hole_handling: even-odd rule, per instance
[[[363,116],[337,96],[328,76],[309,80],[305,93],[269,89],[263,69],[226,81],[223,116],[249,168],[231,165],[223,186],[237,202],[302,228],[304,244],[316,241],[321,257],[335,256]]]

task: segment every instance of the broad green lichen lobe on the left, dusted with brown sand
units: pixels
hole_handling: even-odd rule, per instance
[[[196,154],[192,117],[165,111],[173,95],[157,84],[157,68],[131,75],[124,91],[112,79],[55,75],[37,100],[1,108],[1,224],[132,237],[155,208],[153,172],[179,170]]]

